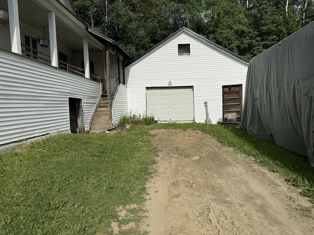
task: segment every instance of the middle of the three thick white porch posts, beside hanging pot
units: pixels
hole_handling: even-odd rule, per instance
[[[50,60],[53,67],[58,67],[58,48],[57,48],[57,33],[55,24],[55,13],[48,13],[49,23],[49,44],[50,44]]]

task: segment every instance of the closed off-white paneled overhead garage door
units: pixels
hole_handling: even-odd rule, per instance
[[[161,121],[193,121],[193,97],[193,87],[146,88],[147,114]]]

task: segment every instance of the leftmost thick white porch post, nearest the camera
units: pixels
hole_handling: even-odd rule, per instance
[[[11,51],[22,55],[18,0],[8,0]]]

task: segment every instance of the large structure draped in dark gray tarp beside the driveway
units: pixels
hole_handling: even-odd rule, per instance
[[[314,167],[314,22],[250,61],[240,128]]]

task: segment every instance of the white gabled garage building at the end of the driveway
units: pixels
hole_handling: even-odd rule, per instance
[[[154,114],[161,122],[239,121],[248,60],[188,28],[181,28],[139,56],[126,68],[119,111]],[[121,105],[119,107],[122,107]]]

